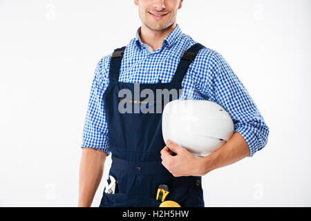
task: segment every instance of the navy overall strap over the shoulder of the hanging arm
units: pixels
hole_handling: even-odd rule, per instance
[[[109,67],[109,81],[119,80],[121,61],[122,61],[125,48],[126,46],[115,49],[115,51],[113,52],[113,55],[111,56],[110,67]]]

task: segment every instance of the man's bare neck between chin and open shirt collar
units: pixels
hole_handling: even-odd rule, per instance
[[[140,39],[142,43],[148,44],[151,46],[151,48],[154,50],[160,48],[162,46],[163,40],[171,31],[173,31],[176,28],[177,24],[173,23],[172,26],[169,26],[169,28],[161,31],[155,31],[147,28],[147,26],[144,26],[142,23],[142,26],[140,28]]]

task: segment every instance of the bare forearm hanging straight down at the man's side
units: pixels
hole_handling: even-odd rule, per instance
[[[102,180],[106,153],[95,148],[83,148],[79,169],[78,206],[91,206],[97,187]]]

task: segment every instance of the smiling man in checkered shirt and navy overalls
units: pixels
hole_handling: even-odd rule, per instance
[[[136,37],[103,57],[95,70],[82,142],[79,206],[91,206],[110,153],[109,175],[117,182],[112,192],[105,189],[100,206],[159,206],[159,184],[169,187],[168,200],[204,206],[201,176],[254,155],[267,144],[269,128],[225,59],[182,34],[176,23],[182,0],[134,3],[142,21]],[[120,90],[134,92],[138,84],[153,92],[182,88],[178,99],[220,104],[234,120],[234,135],[207,157],[163,141],[161,114],[118,109]],[[131,102],[140,99],[126,105]]]

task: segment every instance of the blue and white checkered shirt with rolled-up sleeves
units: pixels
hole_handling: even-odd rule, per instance
[[[140,41],[140,28],[124,51],[119,81],[129,83],[170,82],[180,57],[196,41],[185,35],[177,24],[162,46],[154,51]],[[121,46],[120,46],[121,47]],[[148,50],[149,51],[148,51]],[[102,57],[95,69],[81,147],[109,150],[109,134],[103,102],[109,84],[110,55]],[[215,50],[203,48],[189,66],[182,81],[179,99],[200,99],[216,102],[231,115],[234,131],[247,142],[250,157],[267,144],[269,128],[252,97],[227,61]],[[114,131],[113,133],[117,133]]]

